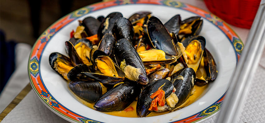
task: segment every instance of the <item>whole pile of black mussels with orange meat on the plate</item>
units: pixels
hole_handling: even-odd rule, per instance
[[[176,110],[194,86],[216,79],[217,66],[199,35],[199,16],[175,15],[163,24],[151,14],[140,11],[127,19],[113,12],[79,20],[65,42],[68,56],[51,53],[51,68],[97,111],[122,111],[134,101],[138,117]]]

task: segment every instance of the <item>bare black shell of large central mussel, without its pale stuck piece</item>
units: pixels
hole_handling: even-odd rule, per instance
[[[125,61],[126,67],[130,65],[136,69],[140,68],[140,75],[138,76],[137,82],[143,85],[148,83],[148,78],[142,59],[129,40],[120,39],[114,48],[114,55],[118,66],[121,67],[121,62]]]

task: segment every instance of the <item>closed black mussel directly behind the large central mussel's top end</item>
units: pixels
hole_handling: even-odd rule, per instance
[[[128,39],[130,42],[134,42],[135,40],[132,24],[124,17],[120,17],[116,20],[113,33],[115,34],[116,40]]]

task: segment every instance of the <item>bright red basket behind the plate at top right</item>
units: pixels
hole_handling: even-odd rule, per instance
[[[261,0],[204,0],[208,9],[225,22],[250,29]]]

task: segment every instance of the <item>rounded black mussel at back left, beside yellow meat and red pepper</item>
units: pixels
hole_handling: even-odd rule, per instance
[[[98,34],[98,29],[99,29],[99,25],[100,25],[100,21],[95,19],[94,17],[86,17],[83,21],[82,21],[82,25],[85,27],[85,31],[89,36]]]

